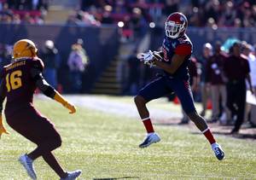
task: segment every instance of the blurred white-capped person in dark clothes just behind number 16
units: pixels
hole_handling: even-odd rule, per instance
[[[61,62],[58,49],[55,48],[53,41],[45,41],[44,49],[40,53],[40,56],[44,61],[44,77],[46,81],[56,89],[58,85],[57,69],[60,67]]]

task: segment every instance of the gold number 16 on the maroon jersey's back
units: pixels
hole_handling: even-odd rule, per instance
[[[22,72],[20,70],[15,71],[13,73],[8,73],[6,75],[5,80],[6,80],[6,88],[8,92],[10,90],[16,90],[22,86],[21,78],[20,78],[21,75],[22,75]]]

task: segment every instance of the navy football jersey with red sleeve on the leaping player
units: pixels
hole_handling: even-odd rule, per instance
[[[186,55],[183,64],[177,68],[177,71],[173,74],[166,73],[167,76],[172,76],[173,78],[183,78],[189,79],[189,61],[190,56],[192,54],[193,45],[187,35],[183,35],[179,38],[168,38],[165,36],[161,50],[164,53],[164,60],[163,62],[171,64],[172,56],[177,55]]]

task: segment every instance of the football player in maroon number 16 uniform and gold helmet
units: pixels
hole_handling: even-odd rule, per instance
[[[49,119],[33,107],[33,93],[39,88],[45,96],[67,107],[69,113],[75,113],[76,108],[45,81],[42,76],[44,63],[38,58],[37,51],[31,40],[21,39],[14,45],[12,63],[3,67],[0,85],[0,136],[8,133],[2,123],[3,101],[6,97],[4,113],[8,125],[38,145],[31,153],[20,156],[20,163],[24,165],[28,175],[37,179],[32,163],[42,156],[61,179],[75,179],[81,171],[64,171],[51,152],[61,146],[61,136]]]

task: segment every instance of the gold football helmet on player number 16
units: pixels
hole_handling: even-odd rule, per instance
[[[35,57],[37,56],[37,53],[38,49],[32,40],[20,39],[14,45],[13,58]]]

